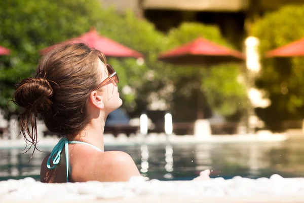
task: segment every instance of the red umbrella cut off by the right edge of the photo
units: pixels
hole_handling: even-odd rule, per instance
[[[292,57],[304,56],[304,38],[271,50],[265,54],[265,57]]]

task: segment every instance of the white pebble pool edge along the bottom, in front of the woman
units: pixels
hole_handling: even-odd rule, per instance
[[[201,181],[46,184],[31,178],[1,181],[0,202],[304,202],[304,178],[235,177]]]

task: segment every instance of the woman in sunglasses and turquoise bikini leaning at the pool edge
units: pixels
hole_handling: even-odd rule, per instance
[[[105,56],[82,43],[54,48],[36,77],[21,81],[13,101],[24,110],[19,120],[25,140],[36,148],[38,114],[62,137],[42,162],[42,182],[128,181],[140,175],[128,154],[104,152],[106,117],[122,105],[118,82]]]

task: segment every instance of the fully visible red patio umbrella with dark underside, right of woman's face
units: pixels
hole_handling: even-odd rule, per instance
[[[210,65],[225,62],[240,62],[244,60],[241,52],[210,42],[204,38],[197,38],[185,45],[163,52],[159,60],[178,65]],[[200,94],[199,94],[200,95]],[[204,118],[203,100],[198,95],[198,119]]]

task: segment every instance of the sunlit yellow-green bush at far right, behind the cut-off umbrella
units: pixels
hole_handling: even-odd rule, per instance
[[[253,34],[260,39],[261,55],[302,38],[303,19],[304,6],[286,6],[259,20]],[[273,129],[280,121],[304,117],[304,58],[263,59],[256,85],[268,92],[271,106],[258,113]]]

